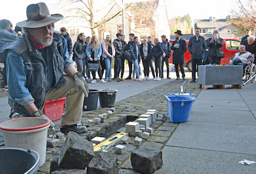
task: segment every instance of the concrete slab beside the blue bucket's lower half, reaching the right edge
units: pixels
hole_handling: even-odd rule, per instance
[[[222,110],[214,108],[205,108],[204,110],[202,110],[202,108],[193,108],[189,117],[189,122],[256,126],[256,120],[250,111]]]

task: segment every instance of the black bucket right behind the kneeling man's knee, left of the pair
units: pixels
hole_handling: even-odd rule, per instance
[[[96,110],[98,105],[99,90],[89,89],[88,98],[84,98],[83,111]]]

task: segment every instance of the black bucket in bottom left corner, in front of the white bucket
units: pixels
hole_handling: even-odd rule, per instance
[[[39,155],[30,149],[0,149],[0,161],[1,174],[32,174],[39,168]]]

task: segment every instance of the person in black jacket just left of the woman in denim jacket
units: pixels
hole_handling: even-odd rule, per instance
[[[84,67],[86,65],[85,41],[86,41],[86,36],[84,35],[84,33],[78,34],[77,41],[73,48],[73,52],[74,52],[73,59],[76,61],[77,70],[83,76],[84,76]]]

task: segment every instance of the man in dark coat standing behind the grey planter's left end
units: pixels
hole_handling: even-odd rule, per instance
[[[202,64],[203,54],[206,49],[205,39],[200,36],[200,28],[195,28],[195,36],[191,37],[188,42],[188,50],[191,53],[192,61],[192,81],[196,81],[196,71],[198,68],[196,66]]]

